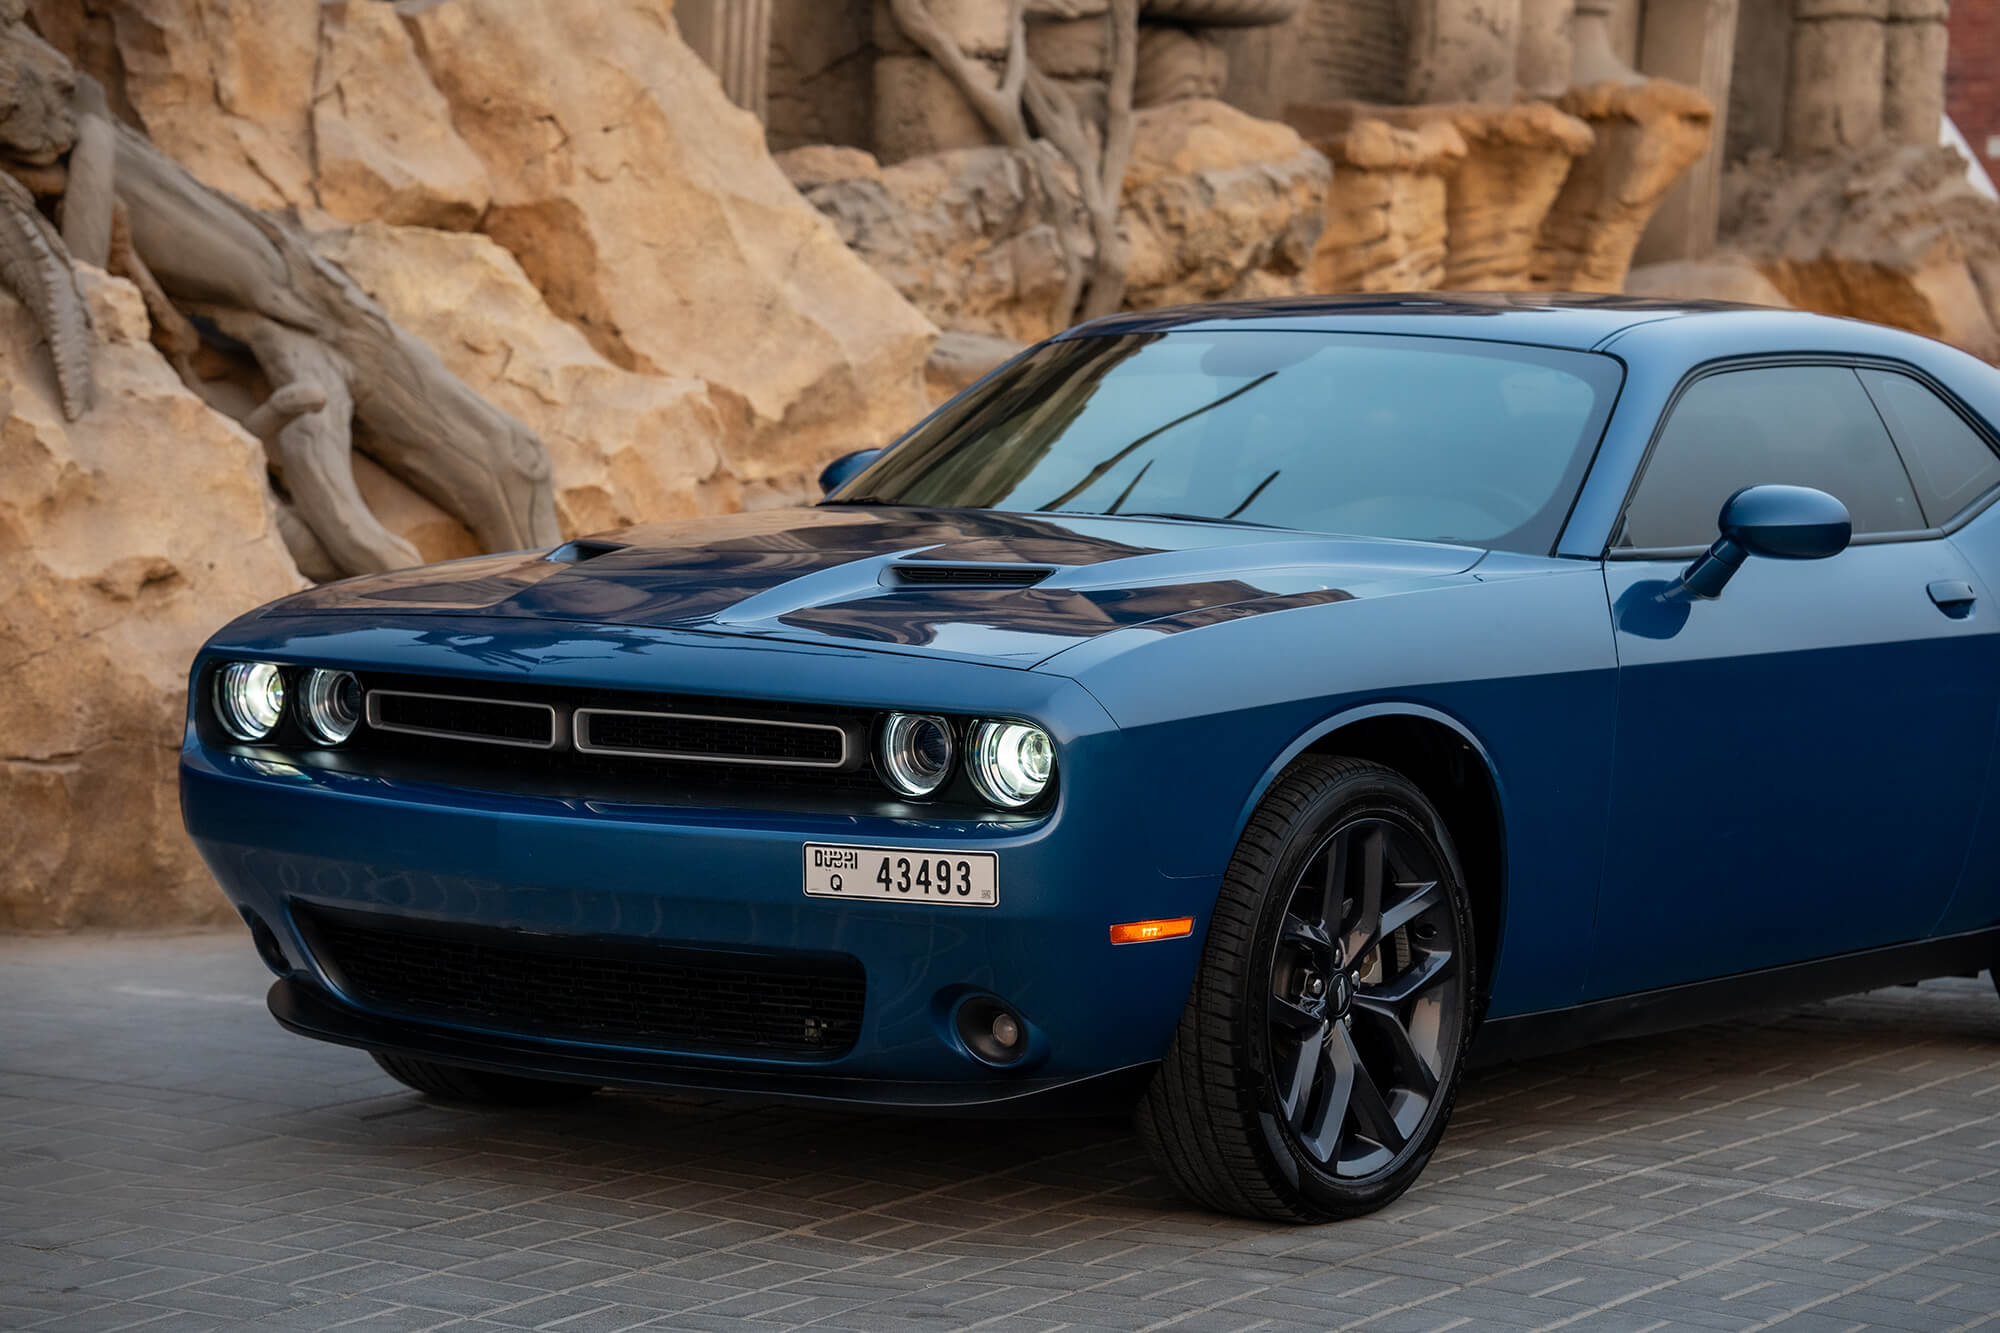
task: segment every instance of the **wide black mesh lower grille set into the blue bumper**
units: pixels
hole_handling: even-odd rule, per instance
[[[848,955],[548,937],[296,903],[306,943],[360,1005],[526,1037],[708,1055],[836,1059],[868,983]]]

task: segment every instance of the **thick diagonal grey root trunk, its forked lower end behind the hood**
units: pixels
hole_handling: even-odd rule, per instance
[[[354,420],[382,466],[464,518],[488,550],[560,540],[542,440],[466,388],[290,224],[210,190],[124,126],[114,178],[132,248],[160,288],[250,348],[278,386],[266,406],[290,394],[276,410],[274,464],[340,570],[420,560],[354,486]]]

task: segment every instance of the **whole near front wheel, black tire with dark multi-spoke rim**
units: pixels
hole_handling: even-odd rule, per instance
[[[1474,967],[1464,875],[1424,793],[1374,763],[1296,763],[1222,877],[1140,1139],[1180,1193],[1222,1213],[1314,1223],[1380,1209],[1444,1135]]]

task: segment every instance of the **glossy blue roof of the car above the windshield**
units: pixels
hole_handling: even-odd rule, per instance
[[[1310,332],[1374,332],[1420,334],[1432,338],[1482,338],[1490,342],[1528,342],[1560,348],[1600,348],[1618,334],[1640,324],[1706,316],[1714,324],[1746,316],[1762,316],[1776,332],[1782,326],[1792,336],[1808,330],[1828,332],[1828,326],[1872,328],[1856,320],[1824,314],[1770,310],[1726,300],[1660,300],[1648,296],[1600,296],[1590,292],[1382,292],[1348,296],[1284,296],[1274,300],[1230,300],[1164,310],[1134,310],[1112,314],[1060,334],[1082,338],[1126,332],[1230,328],[1274,328]],[[1780,316],[1780,318],[1772,318]],[[1886,332],[1886,330],[1882,330]]]

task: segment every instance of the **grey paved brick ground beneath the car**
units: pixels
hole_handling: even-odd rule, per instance
[[[262,987],[234,937],[0,941],[0,1327],[2000,1327],[1984,979],[1478,1077],[1316,1229],[1110,1123],[446,1111]]]

